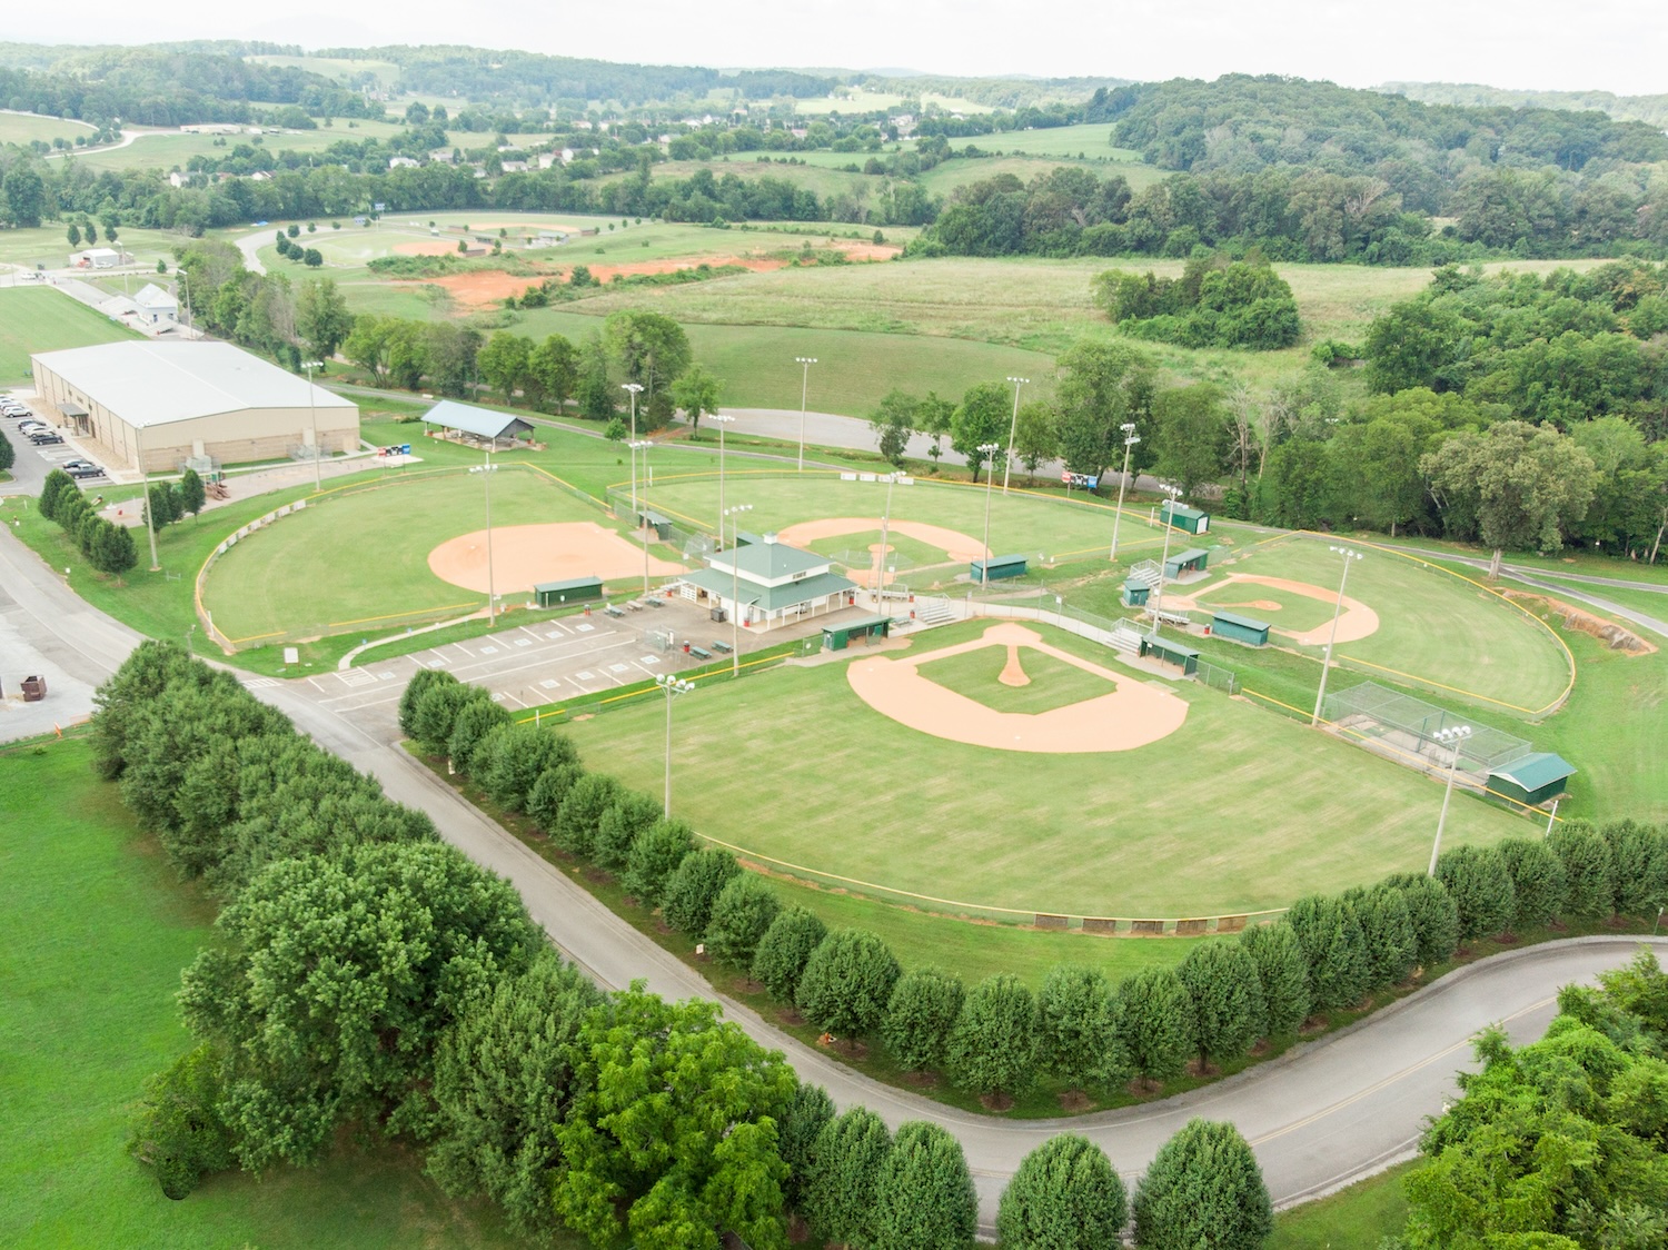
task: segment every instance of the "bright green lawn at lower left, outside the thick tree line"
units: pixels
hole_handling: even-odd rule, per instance
[[[188,1036],[173,995],[214,908],[138,833],[85,739],[0,753],[0,1243],[219,1250],[509,1247],[404,1152],[212,1178],[162,1197],[125,1153],[143,1081]],[[572,1245],[572,1243],[569,1243]]]

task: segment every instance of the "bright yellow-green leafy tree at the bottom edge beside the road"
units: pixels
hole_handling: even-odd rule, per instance
[[[642,1250],[719,1250],[729,1228],[786,1250],[776,1118],[796,1081],[781,1053],[719,1020],[717,1003],[666,1003],[641,981],[589,1015],[574,1053],[552,1180],[569,1228]]]

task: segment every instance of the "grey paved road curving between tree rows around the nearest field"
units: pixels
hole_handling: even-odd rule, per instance
[[[38,626],[73,648],[88,669],[108,673],[135,636],[73,596],[15,536],[0,582]],[[427,811],[444,836],[502,873],[575,963],[607,986],[642,978],[669,998],[712,998],[692,968],[597,903],[555,866],[529,851],[395,744],[397,729],[355,724],[319,706],[305,683],[252,681],[320,746],[377,776],[389,796]],[[1278,1205],[1318,1197],[1413,1153],[1424,1118],[1453,1095],[1453,1073],[1470,1060],[1470,1038],[1503,1021],[1518,1041],[1538,1036],[1558,988],[1625,963],[1636,938],[1580,938],[1511,951],[1465,968],[1378,1015],[1226,1081],[1149,1106],[1069,1121],[1006,1121],[951,1110],[894,1090],[771,1028],[746,1006],[726,1013],[766,1046],[782,1050],[802,1078],[824,1085],[841,1106],[864,1103],[887,1123],[936,1120],[961,1138],[989,1233],[996,1200],[1019,1160],[1071,1128],[1098,1140],[1118,1170],[1138,1177],[1189,1116],[1234,1121],[1251,1140]],[[1668,950],[1668,938],[1655,940]]]

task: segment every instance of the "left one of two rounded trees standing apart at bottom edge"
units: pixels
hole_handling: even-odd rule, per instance
[[[1019,1162],[996,1208],[1004,1250],[1104,1250],[1129,1218],[1124,1183],[1084,1137],[1051,1137]]]

